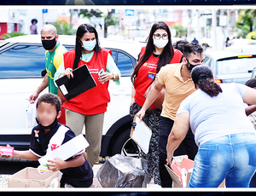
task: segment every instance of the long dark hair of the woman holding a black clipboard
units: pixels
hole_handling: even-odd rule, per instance
[[[96,46],[94,48],[94,50],[96,51],[96,58],[99,52],[101,52],[101,47],[100,47],[100,42],[99,42],[99,37],[98,37],[98,33],[96,32],[95,27],[91,26],[90,24],[82,24],[79,26],[78,30],[77,30],[77,36],[76,36],[76,46],[75,46],[75,59],[73,61],[73,69],[78,68],[79,66],[79,60],[82,56],[82,43],[81,43],[81,39],[84,36],[85,32],[92,32],[95,34],[96,37]]]

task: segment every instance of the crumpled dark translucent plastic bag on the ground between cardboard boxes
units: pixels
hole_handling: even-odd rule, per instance
[[[120,154],[108,159],[96,173],[102,187],[147,187],[147,160]]]

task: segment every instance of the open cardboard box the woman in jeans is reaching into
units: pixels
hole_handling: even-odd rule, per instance
[[[166,165],[166,170],[172,177],[172,187],[188,187],[194,163],[193,160],[183,158],[182,162],[172,162],[172,170]],[[218,187],[225,187],[225,180]]]

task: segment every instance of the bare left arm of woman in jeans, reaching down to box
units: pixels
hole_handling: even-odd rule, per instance
[[[177,114],[175,118],[172,131],[168,137],[168,143],[166,146],[167,151],[167,164],[172,164],[172,156],[174,151],[183,141],[189,131],[189,113]]]

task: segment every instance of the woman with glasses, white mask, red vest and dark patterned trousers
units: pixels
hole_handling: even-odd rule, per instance
[[[148,87],[157,79],[161,66],[179,63],[183,54],[172,47],[171,32],[165,22],[156,22],[150,30],[148,43],[140,53],[139,61],[131,75],[133,89],[131,92],[130,114],[134,118],[140,111],[145,101]],[[156,105],[156,104],[155,104]],[[160,122],[160,108],[154,104],[150,106],[143,118],[145,124],[152,130],[148,154],[143,153],[143,158],[148,160],[148,173],[154,177],[154,183],[160,185],[158,135]]]

